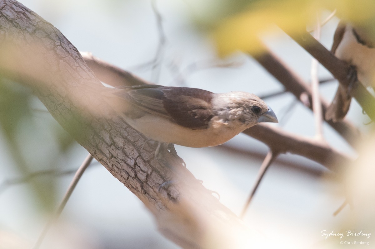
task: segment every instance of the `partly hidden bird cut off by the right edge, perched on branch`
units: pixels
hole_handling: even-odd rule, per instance
[[[341,20],[333,36],[331,52],[342,61],[352,66],[349,76],[351,83],[358,79],[365,87],[375,86],[375,48],[374,37],[366,27],[353,25],[348,21]],[[326,120],[333,122],[344,119],[348,113],[352,87],[339,84],[332,103],[327,108]]]

